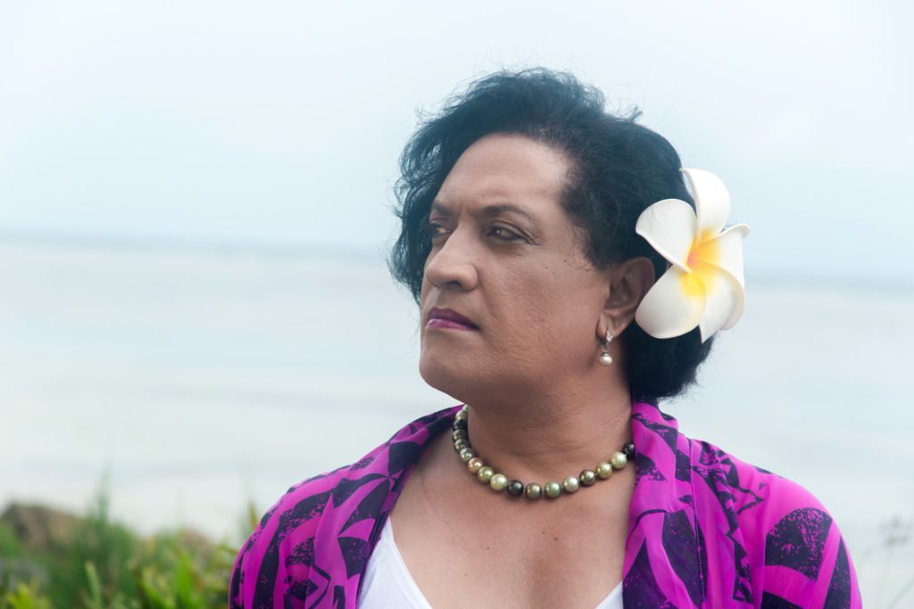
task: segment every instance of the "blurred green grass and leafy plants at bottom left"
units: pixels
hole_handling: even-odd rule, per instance
[[[101,490],[62,547],[30,549],[0,522],[0,609],[208,609],[228,604],[237,549],[113,522]],[[252,506],[246,520],[256,514]],[[256,522],[246,522],[252,530]]]

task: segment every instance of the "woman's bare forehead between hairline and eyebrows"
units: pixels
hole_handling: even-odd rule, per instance
[[[511,203],[558,211],[568,162],[562,152],[523,135],[496,133],[462,153],[435,197],[436,207]]]

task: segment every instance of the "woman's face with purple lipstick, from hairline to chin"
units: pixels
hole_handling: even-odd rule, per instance
[[[468,402],[567,386],[597,365],[609,281],[559,203],[568,170],[547,144],[493,134],[441,184],[421,291],[420,373],[431,386]]]

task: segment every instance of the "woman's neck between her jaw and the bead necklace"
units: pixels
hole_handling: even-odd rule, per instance
[[[482,396],[467,402],[473,450],[508,479],[561,480],[592,469],[632,439],[632,399],[620,379]]]

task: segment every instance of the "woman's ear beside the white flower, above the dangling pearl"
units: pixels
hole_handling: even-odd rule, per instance
[[[618,336],[634,320],[634,312],[647,290],[654,285],[654,263],[647,257],[634,257],[611,267],[607,272],[609,295],[603,303],[598,336],[610,331]]]

